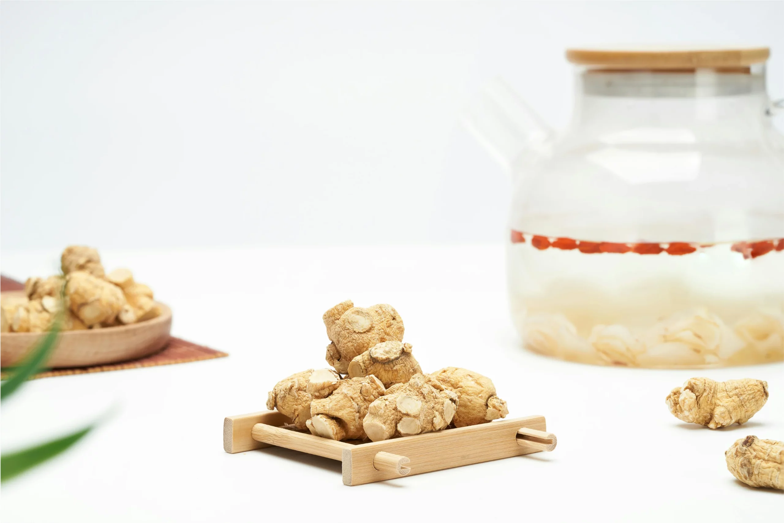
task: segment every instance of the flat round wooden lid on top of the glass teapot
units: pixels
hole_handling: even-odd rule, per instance
[[[572,64],[618,69],[694,69],[699,67],[748,67],[768,60],[768,47],[581,47],[566,50]]]

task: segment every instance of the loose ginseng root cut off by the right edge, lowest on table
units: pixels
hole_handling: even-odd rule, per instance
[[[752,487],[784,490],[784,441],[746,436],[724,452],[727,469]]]

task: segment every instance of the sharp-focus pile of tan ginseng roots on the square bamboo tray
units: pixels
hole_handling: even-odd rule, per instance
[[[492,381],[467,369],[425,374],[403,343],[403,320],[387,304],[354,307],[350,300],[324,314],[326,360],[279,381],[267,398],[296,428],[332,440],[382,441],[506,416]]]

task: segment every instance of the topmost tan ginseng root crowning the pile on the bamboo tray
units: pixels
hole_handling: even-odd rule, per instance
[[[326,359],[341,374],[347,374],[351,360],[370,347],[403,340],[403,320],[391,305],[365,309],[346,300],[326,311],[323,319],[332,342],[327,346]]]

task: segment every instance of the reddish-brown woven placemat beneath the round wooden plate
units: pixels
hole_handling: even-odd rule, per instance
[[[24,290],[24,284],[12,278],[0,275],[0,291]],[[159,350],[147,358],[138,360],[123,361],[111,365],[96,365],[94,367],[76,367],[73,369],[52,369],[39,372],[33,379],[49,378],[51,376],[69,376],[71,374],[87,374],[89,372],[105,372],[110,370],[140,369],[142,367],[154,367],[156,365],[172,365],[175,363],[188,363],[190,361],[210,360],[212,358],[223,358],[227,353],[220,350],[197,345],[190,341],[180,338],[169,339],[169,343],[162,350]]]

